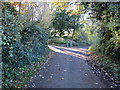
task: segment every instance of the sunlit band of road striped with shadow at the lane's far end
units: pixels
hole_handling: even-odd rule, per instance
[[[62,54],[66,54],[66,55],[71,55],[77,58],[81,58],[81,59],[86,59],[86,52],[87,49],[84,48],[78,48],[78,47],[62,47],[62,46],[51,46],[49,45],[49,48],[55,52],[58,53],[62,53]]]

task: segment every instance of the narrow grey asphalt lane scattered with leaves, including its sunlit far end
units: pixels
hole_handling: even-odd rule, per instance
[[[105,88],[85,61],[87,47],[49,46],[55,51],[45,66],[35,75],[30,88]]]

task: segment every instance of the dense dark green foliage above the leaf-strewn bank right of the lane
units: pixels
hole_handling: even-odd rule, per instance
[[[98,52],[119,59],[120,57],[120,3],[92,3],[92,13],[100,21]]]

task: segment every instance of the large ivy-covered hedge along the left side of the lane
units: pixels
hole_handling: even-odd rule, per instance
[[[47,34],[38,23],[20,20],[10,3],[2,3],[3,88],[23,87],[48,55]]]

